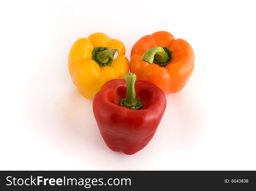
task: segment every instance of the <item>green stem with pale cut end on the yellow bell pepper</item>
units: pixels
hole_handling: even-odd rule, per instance
[[[110,66],[112,60],[118,58],[118,49],[107,49],[107,47],[97,47],[92,51],[92,59],[100,66]]]

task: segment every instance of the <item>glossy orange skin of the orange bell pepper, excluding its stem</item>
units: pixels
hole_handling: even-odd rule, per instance
[[[172,60],[165,66],[142,60],[143,54],[154,47],[167,47]],[[177,93],[189,81],[194,69],[194,52],[188,42],[176,39],[171,33],[158,31],[139,39],[131,49],[130,71],[137,80],[150,81],[165,93]]]

